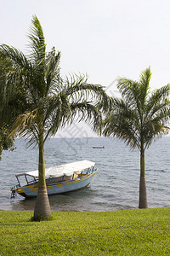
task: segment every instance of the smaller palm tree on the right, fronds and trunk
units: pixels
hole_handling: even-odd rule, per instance
[[[104,135],[124,140],[140,151],[139,208],[147,208],[144,152],[156,137],[167,134],[170,86],[150,94],[150,67],[141,73],[139,82],[118,79],[122,99],[112,98],[112,108],[105,118]]]

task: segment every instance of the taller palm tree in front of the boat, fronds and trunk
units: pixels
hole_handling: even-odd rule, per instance
[[[22,85],[26,102],[25,112],[14,121],[11,135],[30,137],[30,144],[39,148],[39,182],[34,217],[51,215],[45,182],[44,143],[59,128],[73,120],[85,120],[94,131],[102,124],[101,111],[108,105],[108,96],[100,85],[88,84],[87,76],[73,75],[69,79],[59,76],[60,52],[53,48],[46,53],[42,26],[33,16],[29,38],[31,53],[26,56],[20,50],[2,45],[0,55],[10,58],[14,70],[8,75],[14,86]],[[14,87],[13,86],[13,87]],[[103,105],[100,103],[103,102]]]

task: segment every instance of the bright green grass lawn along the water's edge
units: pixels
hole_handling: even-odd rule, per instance
[[[170,208],[32,215],[0,212],[0,255],[170,255]]]

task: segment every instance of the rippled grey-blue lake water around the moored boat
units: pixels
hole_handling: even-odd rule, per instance
[[[0,210],[33,210],[35,199],[10,199],[14,174],[37,170],[37,148],[17,139],[13,152],[0,161]],[[105,146],[94,149],[93,146]],[[170,137],[162,137],[145,152],[149,207],[170,207]],[[113,211],[138,208],[139,150],[131,151],[116,138],[52,138],[45,147],[46,166],[92,160],[98,167],[85,189],[49,197],[52,211]]]

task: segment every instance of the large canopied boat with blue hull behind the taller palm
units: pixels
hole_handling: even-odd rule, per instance
[[[91,182],[97,169],[95,163],[81,160],[61,166],[49,167],[45,170],[48,195],[63,194],[82,189]],[[11,197],[18,193],[24,197],[36,197],[38,188],[38,171],[22,172],[16,174],[18,184],[11,188]],[[21,179],[25,178],[25,184]]]

